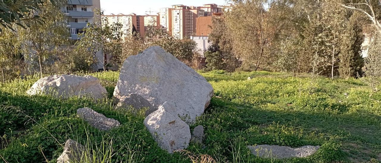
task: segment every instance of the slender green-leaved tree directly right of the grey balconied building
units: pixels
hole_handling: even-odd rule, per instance
[[[122,24],[109,24],[107,18],[101,17],[103,11],[96,9],[93,23],[88,22],[78,34],[80,40],[75,43],[78,50],[92,53],[101,62],[103,70],[107,67],[107,54],[118,56],[122,52]],[[99,57],[97,53],[101,53]]]

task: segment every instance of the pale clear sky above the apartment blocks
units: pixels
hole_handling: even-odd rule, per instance
[[[159,12],[160,8],[171,5],[202,6],[203,4],[215,3],[217,5],[226,4],[226,0],[100,0],[104,14],[130,14],[138,15],[152,14]]]

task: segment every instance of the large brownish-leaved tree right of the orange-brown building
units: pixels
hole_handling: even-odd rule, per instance
[[[290,3],[284,0],[234,0],[226,13],[233,52],[248,69],[267,68],[280,51],[277,41],[290,23]]]

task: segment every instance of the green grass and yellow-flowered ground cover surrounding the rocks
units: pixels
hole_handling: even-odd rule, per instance
[[[54,162],[64,142],[85,145],[98,162],[378,162],[381,161],[381,93],[360,80],[272,72],[199,72],[215,89],[210,107],[190,126],[205,128],[202,144],[167,154],[152,139],[144,116],[115,112],[118,72],[93,73],[109,92],[94,103],[72,97],[27,96],[38,80],[0,84],[0,162]],[[86,75],[78,73],[78,75]],[[248,77],[255,77],[247,80]],[[91,107],[122,124],[99,131],[76,116]],[[247,145],[321,145],[306,158],[276,160],[251,155]]]

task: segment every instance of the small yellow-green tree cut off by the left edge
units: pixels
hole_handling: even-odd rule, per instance
[[[16,33],[10,29],[3,28],[0,33],[0,67],[2,82],[10,76],[10,72],[16,68],[16,59],[20,53],[21,42],[16,37]],[[8,71],[8,72],[7,72]]]

